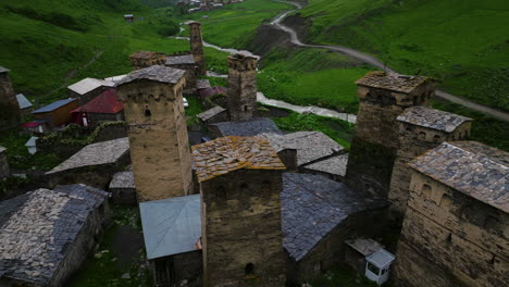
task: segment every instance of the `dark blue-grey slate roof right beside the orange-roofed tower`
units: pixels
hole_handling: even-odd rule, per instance
[[[283,174],[281,203],[283,247],[296,261],[350,214],[387,205],[324,176],[298,173]]]

